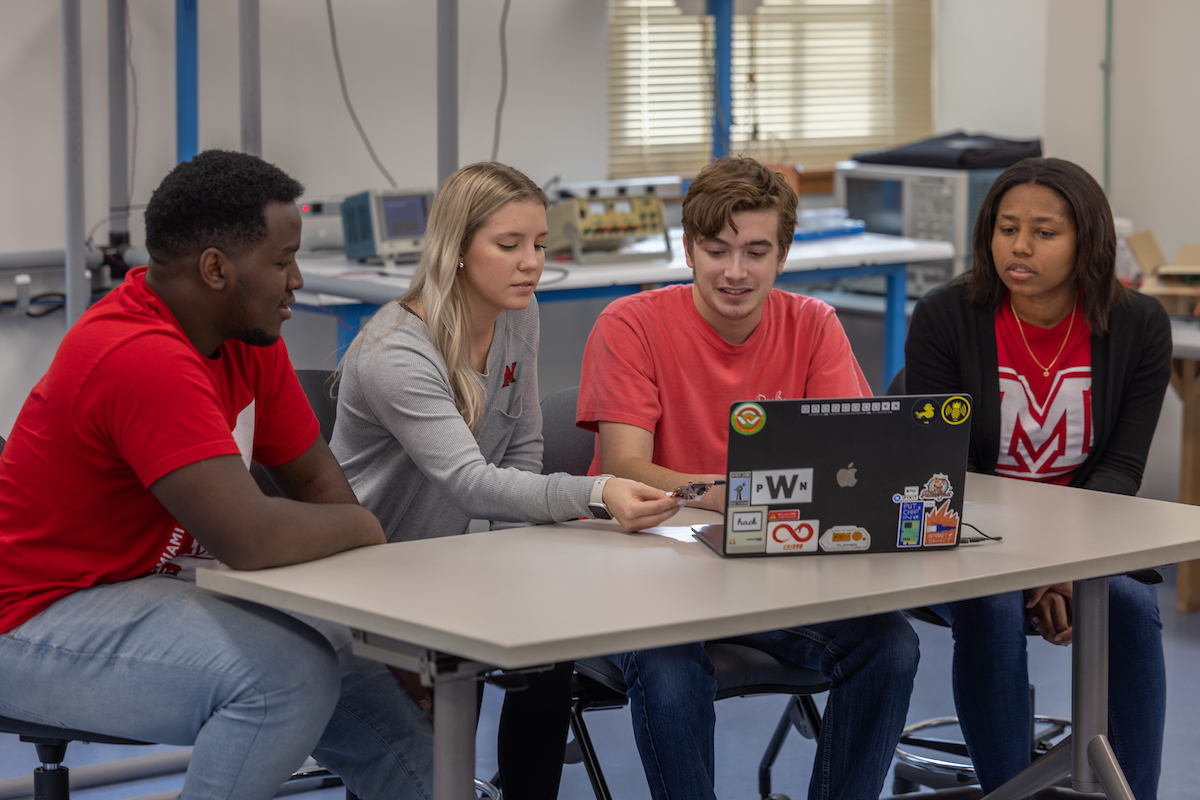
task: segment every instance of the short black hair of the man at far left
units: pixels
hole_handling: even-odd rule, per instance
[[[275,164],[229,150],[205,150],[162,179],[146,205],[146,251],[158,264],[216,247],[230,257],[266,236],[266,206],[294,203],[304,186]]]

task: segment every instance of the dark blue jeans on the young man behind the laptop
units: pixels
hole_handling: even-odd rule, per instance
[[[816,669],[829,680],[809,799],[880,796],[919,658],[917,634],[904,616],[881,614],[730,640]],[[625,674],[650,795],[714,799],[716,679],[703,645],[608,657]]]

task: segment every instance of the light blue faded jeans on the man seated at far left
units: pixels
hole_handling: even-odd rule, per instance
[[[428,715],[349,645],[178,578],[94,587],[0,634],[0,714],[194,745],[185,800],[272,798],[310,753],[360,796],[430,798]]]

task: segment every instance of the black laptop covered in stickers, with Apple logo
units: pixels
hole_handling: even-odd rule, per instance
[[[721,555],[956,547],[970,395],[739,402],[730,407]]]

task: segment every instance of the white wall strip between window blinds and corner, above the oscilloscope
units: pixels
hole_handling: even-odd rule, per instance
[[[1013,139],[1043,134],[1048,5],[937,0],[936,132],[962,128]]]

